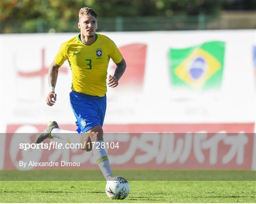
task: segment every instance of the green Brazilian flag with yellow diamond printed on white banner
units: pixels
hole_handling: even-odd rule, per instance
[[[225,42],[210,41],[198,46],[170,49],[170,72],[175,87],[211,89],[221,86]]]

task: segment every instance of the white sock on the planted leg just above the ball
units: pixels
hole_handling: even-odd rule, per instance
[[[104,140],[96,141],[96,142],[101,143],[101,142],[104,142]],[[105,179],[107,181],[109,181],[113,177],[113,174],[110,169],[110,162],[109,162],[107,153],[104,148],[101,148],[101,145],[98,146],[96,144],[97,143],[95,143],[95,145],[92,149],[94,159],[96,160],[96,163],[98,164],[99,168],[101,169],[101,172],[102,172],[103,176],[105,177]],[[96,147],[98,147],[99,149],[97,149]]]

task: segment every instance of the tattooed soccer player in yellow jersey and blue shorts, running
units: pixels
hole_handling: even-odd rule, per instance
[[[43,142],[46,138],[59,138],[72,143],[86,144],[83,150],[91,151],[91,145],[88,145],[90,142],[104,142],[102,125],[106,112],[106,79],[110,58],[117,67],[114,76],[109,76],[109,87],[118,86],[118,81],[126,69],[126,62],[110,38],[96,33],[97,13],[93,9],[80,9],[78,27],[81,34],[60,46],[49,68],[50,92],[46,103],[48,106],[55,104],[58,69],[68,60],[72,71],[70,104],[77,120],[77,132],[82,132],[82,136],[77,132],[61,130],[53,121],[47,125],[43,133],[38,134],[36,143]],[[70,141],[68,134],[62,133],[76,133],[77,140]],[[105,149],[100,145],[100,149],[93,148],[92,153],[106,180],[111,180],[113,176]]]

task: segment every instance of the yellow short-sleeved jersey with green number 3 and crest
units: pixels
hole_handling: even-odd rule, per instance
[[[113,62],[119,63],[123,56],[109,37],[96,34],[94,43],[86,45],[78,35],[60,46],[55,63],[61,66],[68,60],[72,71],[72,90],[103,97],[107,92],[106,80],[110,58]]]

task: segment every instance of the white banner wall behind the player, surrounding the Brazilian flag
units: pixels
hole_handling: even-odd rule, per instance
[[[117,44],[128,64],[119,87],[108,89],[105,124],[255,122],[256,30],[102,34]],[[48,68],[60,44],[75,35],[1,35],[1,132],[7,124],[74,124],[68,62],[59,70],[55,106],[46,105],[46,95]],[[220,89],[176,89],[171,83],[170,49],[211,41],[225,43]],[[108,72],[114,72],[113,62]]]

